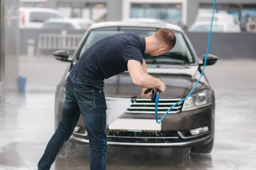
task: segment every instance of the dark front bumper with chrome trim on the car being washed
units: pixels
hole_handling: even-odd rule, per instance
[[[61,120],[61,113],[63,105],[62,102],[58,102],[58,109],[55,112],[56,125]],[[57,114],[56,114],[57,113]],[[158,119],[163,115],[159,114]],[[152,119],[153,114],[123,114],[122,119]],[[78,127],[81,127],[81,131],[74,131],[70,137],[71,141],[80,144],[89,144],[89,139],[86,133],[84,122],[80,116],[77,123]],[[188,135],[190,129],[198,127],[209,127],[209,131],[198,135]],[[84,129],[84,130],[82,130]],[[204,108],[180,112],[177,114],[167,114],[161,124],[161,130],[157,133],[161,135],[152,135],[154,133],[142,132],[140,136],[138,133],[134,137],[135,132],[123,133],[117,135],[118,130],[109,130],[107,127],[108,145],[115,146],[134,146],[134,147],[193,147],[196,145],[207,144],[210,142],[214,135],[214,111],[212,106],[209,105]]]

